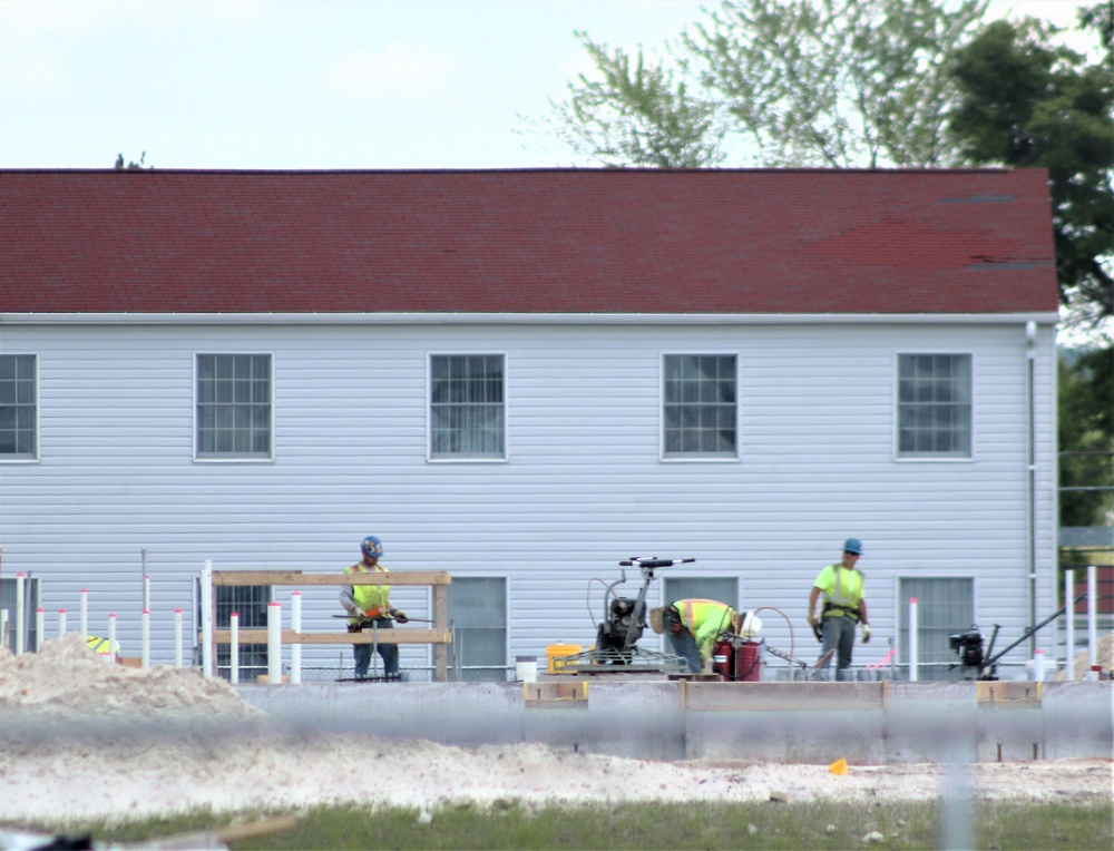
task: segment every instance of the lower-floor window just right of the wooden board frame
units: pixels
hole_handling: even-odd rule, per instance
[[[507,679],[507,580],[452,577],[448,587],[452,623],[450,665],[460,682]]]

